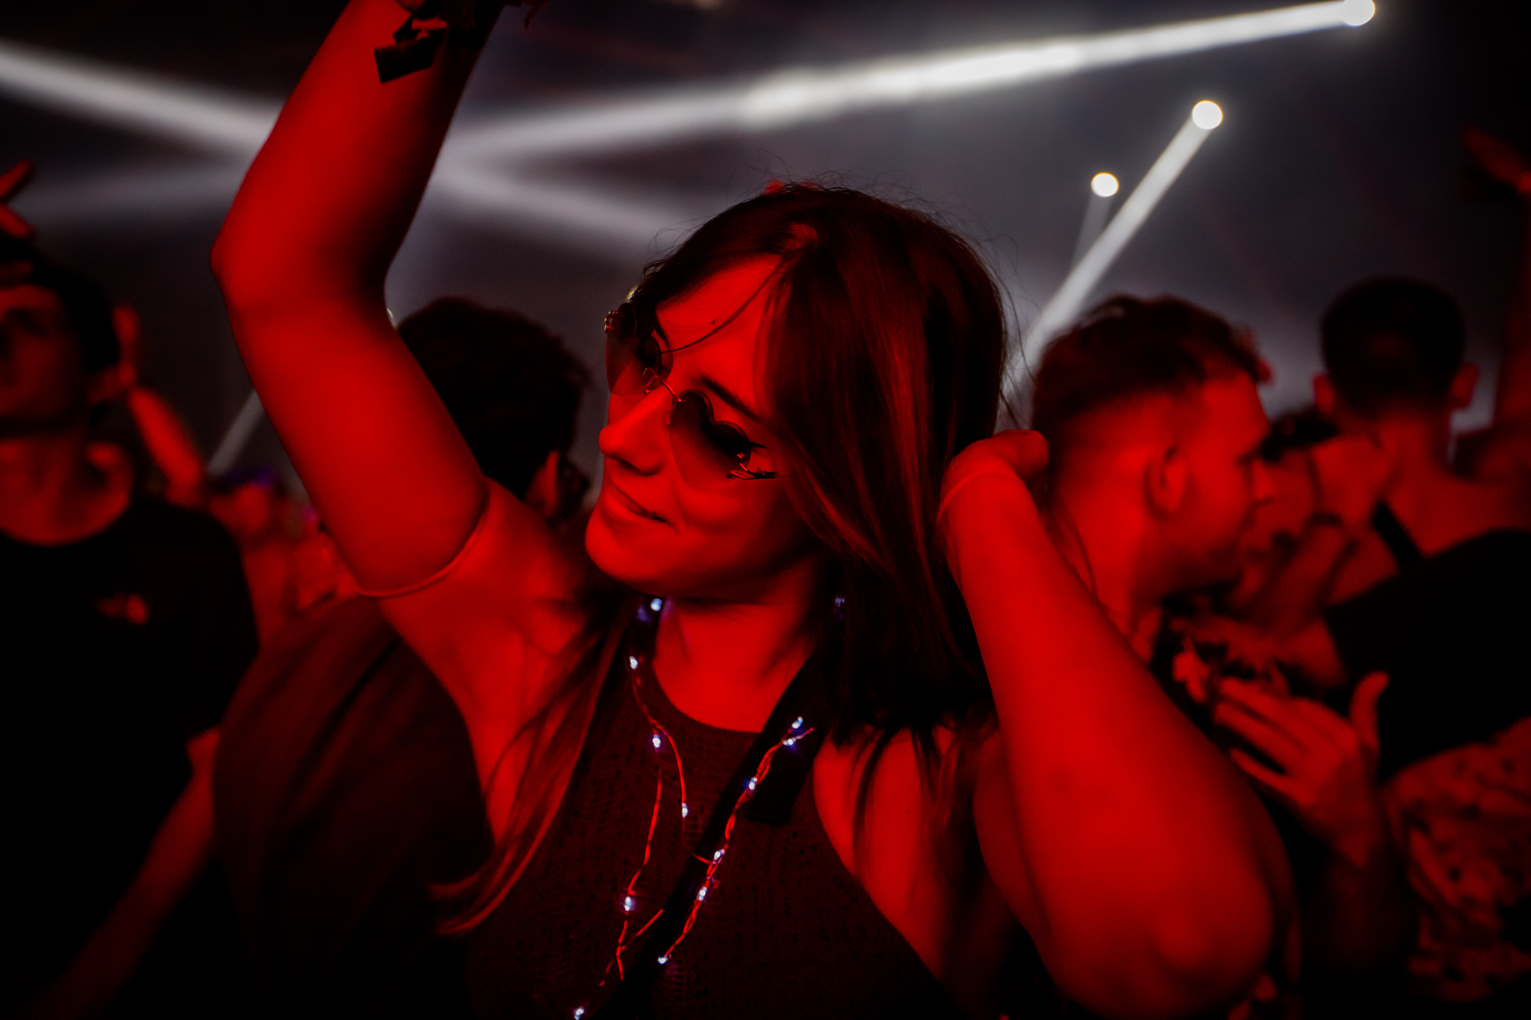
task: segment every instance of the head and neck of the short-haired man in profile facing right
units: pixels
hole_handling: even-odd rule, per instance
[[[1050,528],[1144,659],[1167,598],[1236,577],[1271,497],[1263,376],[1248,336],[1170,297],[1102,303],[1036,370]]]

